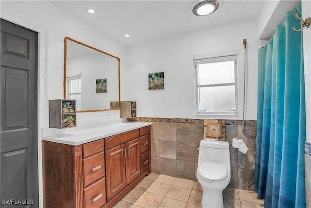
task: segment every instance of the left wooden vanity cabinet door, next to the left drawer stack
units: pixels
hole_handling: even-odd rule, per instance
[[[105,151],[107,200],[125,186],[124,144]]]

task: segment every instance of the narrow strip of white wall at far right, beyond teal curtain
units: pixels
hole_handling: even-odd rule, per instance
[[[311,17],[311,1],[302,1],[302,18]],[[306,132],[307,141],[311,142],[311,27],[303,29],[303,57],[306,91]]]

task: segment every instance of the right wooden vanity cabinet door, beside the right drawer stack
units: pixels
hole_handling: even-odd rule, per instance
[[[128,185],[140,175],[139,138],[126,142],[125,148],[127,151],[125,157],[126,185]]]

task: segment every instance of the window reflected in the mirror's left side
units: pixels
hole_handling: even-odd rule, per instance
[[[66,94],[68,99],[77,100],[77,111],[81,110],[81,73],[66,77]]]

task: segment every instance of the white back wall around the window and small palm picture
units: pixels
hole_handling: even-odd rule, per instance
[[[200,118],[202,116],[194,115],[193,56],[239,50],[240,116],[218,118],[242,119],[244,38],[247,39],[248,71],[245,119],[257,120],[258,39],[255,21],[215,27],[129,47],[125,67],[121,69],[122,100],[137,101],[139,117]],[[164,90],[148,90],[148,73],[154,72],[164,72]]]

